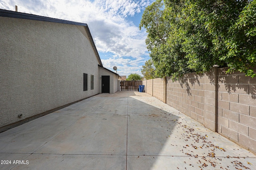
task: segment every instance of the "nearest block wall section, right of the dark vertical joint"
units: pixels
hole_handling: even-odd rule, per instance
[[[256,152],[256,78],[218,69],[218,133]]]

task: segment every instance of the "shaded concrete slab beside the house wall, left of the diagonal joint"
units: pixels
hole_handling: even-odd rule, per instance
[[[33,153],[82,115],[82,113],[71,112],[48,114],[2,132],[0,133],[0,152]]]

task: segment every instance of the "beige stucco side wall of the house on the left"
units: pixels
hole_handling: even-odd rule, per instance
[[[0,23],[0,132],[100,93],[103,66],[87,24],[8,10]],[[108,74],[114,93],[117,75]]]

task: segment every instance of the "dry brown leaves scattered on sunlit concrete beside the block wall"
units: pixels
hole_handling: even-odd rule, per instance
[[[179,140],[185,141],[186,145],[180,146],[181,150],[180,152],[184,153],[186,156],[190,156],[190,162],[196,162],[193,164],[188,164],[188,166],[192,167],[198,167],[199,169],[203,170],[204,168],[206,169],[215,169],[216,166],[219,166],[218,169],[224,169],[224,170],[232,170],[232,169],[238,169],[238,170],[243,170],[243,169],[250,169],[248,165],[252,165],[250,162],[247,163],[245,166],[242,164],[241,161],[239,161],[240,157],[238,156],[223,156],[223,153],[226,152],[226,149],[224,147],[219,147],[217,145],[214,145],[211,139],[216,141],[216,137],[210,135],[209,133],[214,133],[212,131],[208,131],[208,134],[202,133],[197,125],[195,127],[192,127],[190,123],[188,123],[188,120],[182,119],[172,119],[172,114],[162,112],[164,115],[162,118],[159,117],[158,121],[166,121],[170,125],[175,125],[177,129],[182,129],[183,133],[180,134],[181,137],[177,138]],[[175,113],[177,114],[177,113]],[[183,113],[178,113],[179,115]],[[184,114],[183,114],[184,115]],[[182,116],[183,117],[183,116]],[[205,127],[202,127],[205,128]],[[206,129],[207,130],[207,129]],[[167,138],[170,137],[173,134],[174,129],[168,128],[168,135]],[[178,132],[178,131],[177,131]],[[210,139],[208,136],[211,136],[212,138]],[[172,144],[171,144],[172,145]],[[174,145],[172,145],[174,146]],[[178,145],[176,145],[177,147]],[[200,150],[197,152],[196,150]],[[220,152],[222,155],[219,155]],[[202,156],[199,156],[202,154]],[[194,160],[191,160],[194,159]],[[223,159],[232,159],[230,161],[230,164],[226,165],[225,163],[222,163]],[[226,160],[225,160],[226,161]],[[184,161],[184,164],[186,164],[186,161]],[[210,168],[210,166],[212,168]],[[177,167],[179,169],[179,167]],[[186,168],[185,168],[186,169]]]

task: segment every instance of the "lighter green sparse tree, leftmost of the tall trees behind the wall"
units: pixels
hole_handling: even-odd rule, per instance
[[[158,77],[170,76],[175,72],[183,73],[187,68],[187,62],[181,61],[184,53],[180,48],[181,42],[176,39],[179,35],[171,24],[175,21],[172,15],[174,12],[167,8],[164,10],[164,3],[157,0],[144,10],[139,25],[140,29],[145,27],[148,33],[146,45]]]

